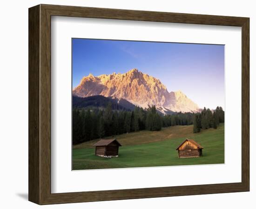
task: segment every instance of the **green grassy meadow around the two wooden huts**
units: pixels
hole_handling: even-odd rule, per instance
[[[186,137],[204,147],[202,157],[178,158],[176,148]],[[94,155],[92,144],[98,140],[73,146],[73,170],[224,163],[224,124],[195,134],[193,125],[189,125],[138,131],[116,138],[122,147],[119,157],[114,158]]]

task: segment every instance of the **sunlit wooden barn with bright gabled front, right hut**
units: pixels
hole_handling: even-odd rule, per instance
[[[180,146],[177,147],[180,158],[200,157],[202,156],[203,147],[197,144],[193,139],[186,139]]]

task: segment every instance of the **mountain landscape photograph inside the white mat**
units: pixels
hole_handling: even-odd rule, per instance
[[[222,164],[225,45],[72,38],[72,170]]]

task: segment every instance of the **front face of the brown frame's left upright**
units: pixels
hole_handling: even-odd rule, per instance
[[[40,6],[40,204],[51,194],[51,15]]]

